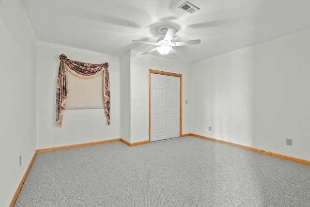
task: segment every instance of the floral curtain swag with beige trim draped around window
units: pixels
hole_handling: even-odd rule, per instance
[[[59,64],[56,90],[56,125],[62,127],[62,114],[66,108],[66,98],[69,95],[65,68],[67,68],[71,73],[82,79],[91,79],[98,76],[102,72],[104,73],[102,81],[103,106],[105,109],[106,117],[108,119],[108,125],[110,125],[110,81],[108,71],[109,64],[82,63],[67,59],[67,56],[63,54],[59,56],[59,59],[61,60],[61,62]]]

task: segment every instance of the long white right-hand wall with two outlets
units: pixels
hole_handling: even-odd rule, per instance
[[[310,30],[194,63],[191,71],[192,133],[310,160]]]

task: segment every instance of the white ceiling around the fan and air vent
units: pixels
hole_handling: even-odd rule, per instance
[[[37,40],[121,56],[155,47],[131,40],[175,28],[174,42],[202,41],[165,56],[188,63],[310,28],[310,0],[189,0],[201,8],[193,15],[178,8],[185,0],[22,1]]]

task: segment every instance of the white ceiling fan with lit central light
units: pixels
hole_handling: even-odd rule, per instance
[[[163,33],[163,36],[159,37],[157,39],[157,43],[144,42],[144,41],[140,41],[140,40],[132,40],[133,42],[139,42],[139,43],[158,46],[154,49],[151,49],[149,51],[142,53],[142,55],[146,55],[146,54],[151,53],[155,50],[157,50],[161,55],[167,55],[171,51],[172,47],[185,46],[185,45],[197,45],[201,42],[201,40],[188,40],[188,41],[181,41],[181,42],[171,42],[172,38],[174,37],[175,33],[178,32],[178,30],[173,29],[173,28],[169,28],[169,29],[163,28],[160,31]]]

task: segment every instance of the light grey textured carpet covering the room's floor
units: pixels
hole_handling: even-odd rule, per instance
[[[310,207],[310,166],[196,137],[37,154],[15,207]]]

